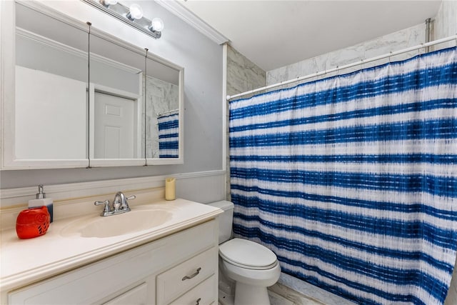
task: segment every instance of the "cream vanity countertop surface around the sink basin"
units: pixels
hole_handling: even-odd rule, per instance
[[[0,291],[16,289],[89,264],[106,256],[131,249],[134,246],[160,239],[196,224],[214,219],[222,212],[206,204],[185,199],[157,201],[148,206],[172,211],[171,219],[153,229],[136,231],[113,237],[81,237],[79,234],[62,234],[64,228],[81,217],[96,218],[96,215],[78,216],[54,221],[45,235],[34,239],[19,239],[15,229],[1,232]],[[133,206],[132,211],[144,206]],[[108,216],[108,217],[116,217]]]

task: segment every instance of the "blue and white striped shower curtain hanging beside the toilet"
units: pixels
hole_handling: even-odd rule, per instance
[[[457,246],[456,48],[230,103],[233,231],[358,304],[443,304]]]

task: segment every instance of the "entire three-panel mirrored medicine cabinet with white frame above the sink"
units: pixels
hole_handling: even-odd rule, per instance
[[[0,5],[2,169],[183,163],[184,68],[35,1]]]

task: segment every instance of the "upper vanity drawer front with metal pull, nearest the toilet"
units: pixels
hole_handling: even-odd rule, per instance
[[[157,304],[169,301],[189,291],[197,284],[216,274],[218,248],[216,246],[157,276]],[[217,277],[216,277],[217,279]],[[215,284],[216,287],[216,284]]]

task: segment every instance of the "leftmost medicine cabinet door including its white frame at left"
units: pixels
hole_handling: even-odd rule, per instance
[[[1,79],[2,166],[86,167],[88,26],[54,16],[39,1],[6,2],[11,5],[2,4],[2,17],[8,18],[1,19],[1,54],[9,59]],[[4,32],[13,35],[4,38]]]

